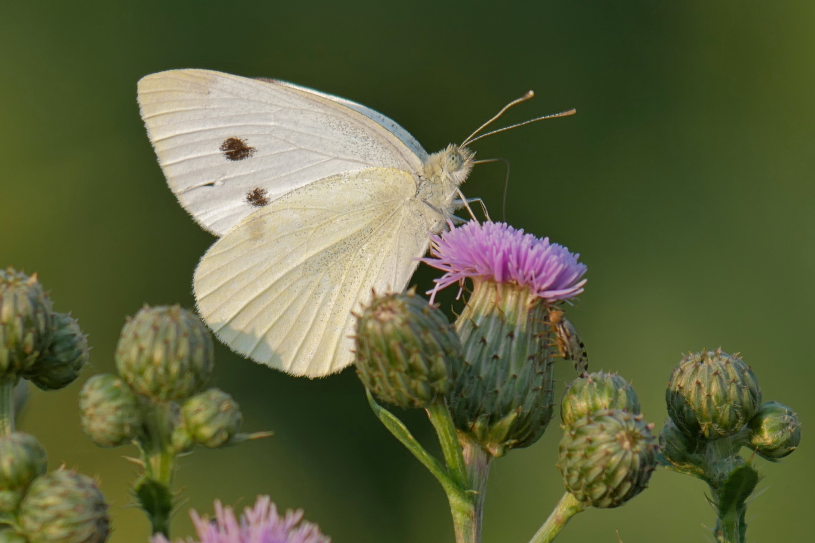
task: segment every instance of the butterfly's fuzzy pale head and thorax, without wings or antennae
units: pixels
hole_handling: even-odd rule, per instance
[[[455,143],[427,157],[417,198],[443,212],[445,220],[452,217],[456,189],[473,169],[473,157],[473,151]]]

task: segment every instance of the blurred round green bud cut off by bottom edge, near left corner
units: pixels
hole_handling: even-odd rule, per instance
[[[110,533],[108,504],[93,479],[60,468],[31,484],[20,527],[31,543],[101,543]]]

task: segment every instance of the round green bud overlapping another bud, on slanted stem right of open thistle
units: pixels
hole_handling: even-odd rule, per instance
[[[622,506],[641,493],[657,463],[653,424],[642,415],[610,409],[566,429],[557,467],[566,489],[585,506]]]

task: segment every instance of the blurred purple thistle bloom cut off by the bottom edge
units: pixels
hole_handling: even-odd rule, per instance
[[[247,506],[240,523],[231,507],[215,500],[215,518],[200,517],[190,510],[200,543],[331,543],[331,538],[319,532],[319,527],[306,520],[301,510],[287,510],[284,517],[277,515],[277,506],[268,496],[258,496],[253,508]],[[300,525],[297,526],[297,523]],[[152,543],[170,543],[163,535],[154,536]],[[177,543],[182,543],[178,540]],[[196,543],[192,537],[187,543]]]

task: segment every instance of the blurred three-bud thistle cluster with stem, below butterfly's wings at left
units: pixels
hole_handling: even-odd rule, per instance
[[[178,455],[271,435],[239,433],[232,397],[205,388],[214,366],[212,338],[200,318],[178,305],[144,306],[128,318],[115,355],[118,375],[97,374],[79,395],[81,428],[100,447],[133,443],[143,466],[134,485],[153,532],[169,532]]]

